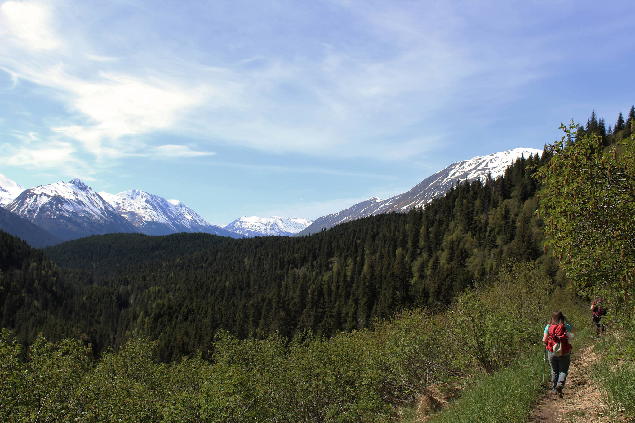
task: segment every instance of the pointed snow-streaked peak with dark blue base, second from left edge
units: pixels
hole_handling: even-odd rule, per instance
[[[62,240],[137,232],[134,225],[78,178],[24,190],[5,208]]]

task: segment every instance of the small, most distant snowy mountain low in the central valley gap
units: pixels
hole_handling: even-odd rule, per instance
[[[272,218],[258,218],[257,216],[241,216],[229,225],[224,226],[228,231],[241,233],[246,237],[266,237],[276,235],[281,237],[290,237],[304,230],[313,223],[309,219],[290,218],[284,219],[280,216]]]

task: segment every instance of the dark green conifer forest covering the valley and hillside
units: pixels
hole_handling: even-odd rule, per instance
[[[443,307],[507,260],[538,260],[553,277],[531,177],[548,160],[519,158],[502,178],[458,183],[425,208],[309,237],[94,236],[46,249],[58,268],[3,234],[6,254],[27,252],[3,268],[1,325],[27,343],[41,331],[83,337],[95,353],[143,333],[170,361],[205,355],[220,329],[330,337],[399,309]]]

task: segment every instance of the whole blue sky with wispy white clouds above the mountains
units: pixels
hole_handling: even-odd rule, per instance
[[[316,219],[635,103],[632,1],[0,1],[0,173]]]

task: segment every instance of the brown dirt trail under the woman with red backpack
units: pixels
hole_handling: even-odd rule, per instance
[[[599,423],[610,421],[601,417],[603,407],[600,394],[594,386],[591,375],[591,363],[595,360],[593,344],[580,348],[572,354],[569,375],[566,379],[563,398],[551,391],[551,368],[549,362],[545,368],[545,385],[548,392],[537,404],[530,422],[536,423]]]

